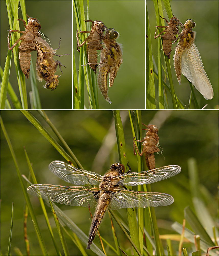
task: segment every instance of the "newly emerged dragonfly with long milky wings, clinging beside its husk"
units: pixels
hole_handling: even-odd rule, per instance
[[[194,44],[195,31],[192,28],[195,23],[192,19],[188,19],[184,24],[184,28],[180,33],[180,41],[176,47],[174,59],[174,68],[177,80],[181,85],[181,73],[201,92],[206,100],[211,100],[214,92],[211,82],[204,70],[199,50]]]

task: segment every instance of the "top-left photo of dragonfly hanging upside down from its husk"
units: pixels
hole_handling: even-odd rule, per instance
[[[1,109],[72,109],[72,1],[0,5]]]

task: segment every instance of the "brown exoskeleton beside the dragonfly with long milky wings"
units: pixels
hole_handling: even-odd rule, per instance
[[[165,18],[162,18],[162,19],[165,19]],[[170,22],[168,22],[167,19],[165,20],[169,26],[156,26],[154,38],[156,39],[158,36],[160,36],[165,32],[165,34],[161,36],[163,38],[163,50],[166,56],[170,58],[172,41],[174,41],[173,44],[177,41],[176,35],[177,34],[179,35],[178,26],[180,25],[182,28],[183,24],[175,16],[173,16],[170,19]],[[165,29],[159,35],[156,36],[157,28],[165,28]]]

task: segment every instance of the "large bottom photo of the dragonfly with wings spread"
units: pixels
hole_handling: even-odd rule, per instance
[[[179,248],[191,255],[197,250],[206,254],[215,245],[218,111],[4,110],[1,127],[3,255],[8,250],[12,202],[11,255],[133,255],[134,250],[168,255],[166,244],[170,255],[179,255]],[[136,148],[144,154],[139,156]],[[155,166],[147,164],[152,162]],[[106,172],[110,173],[103,178]],[[100,204],[102,195],[109,205]],[[54,214],[44,200],[52,242],[37,196],[56,202],[54,212],[63,225],[65,243],[60,242]],[[95,216],[96,205],[98,220],[101,209],[102,214],[109,209],[96,226],[101,240],[98,234],[94,238],[95,232],[89,236],[89,208]],[[159,233],[154,233],[155,227]],[[42,248],[36,232],[42,235]],[[218,249],[210,255],[218,255]]]

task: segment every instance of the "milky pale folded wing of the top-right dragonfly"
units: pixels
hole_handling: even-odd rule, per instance
[[[213,98],[214,92],[211,82],[204,70],[199,50],[194,43],[183,51],[181,72],[201,92],[205,99],[211,100]]]

